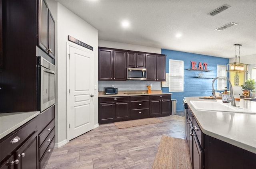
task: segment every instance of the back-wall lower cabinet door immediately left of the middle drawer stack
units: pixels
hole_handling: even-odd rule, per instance
[[[130,118],[130,102],[116,102],[116,120]]]

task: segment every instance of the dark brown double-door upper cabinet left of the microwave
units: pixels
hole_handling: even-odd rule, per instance
[[[98,49],[98,80],[126,81],[126,51]]]

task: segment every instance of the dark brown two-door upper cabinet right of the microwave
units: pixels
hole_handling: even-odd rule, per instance
[[[165,81],[165,55],[146,54],[147,81]]]

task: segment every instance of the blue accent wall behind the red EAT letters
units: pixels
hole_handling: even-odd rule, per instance
[[[184,61],[184,91],[183,92],[171,92],[172,98],[177,100],[176,110],[183,110],[182,100],[184,97],[190,96],[212,96],[212,80],[213,79],[202,79],[195,78],[199,72],[203,73],[203,77],[217,76],[217,65],[226,65],[229,63],[229,59],[222,57],[214,57],[208,55],[200,55],[195,53],[187,53],[180,51],[172,51],[167,49],[161,49],[161,53],[166,55],[166,73],[169,73],[169,59]],[[198,67],[198,63],[207,63],[207,69],[212,70],[206,71],[189,71],[191,69],[191,61],[195,61]],[[203,67],[204,68],[204,67]],[[214,82],[214,88],[217,88],[217,81]],[[168,93],[168,87],[162,87],[162,91]]]

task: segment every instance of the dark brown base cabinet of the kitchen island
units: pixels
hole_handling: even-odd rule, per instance
[[[186,125],[192,169],[256,168],[255,153],[204,134],[189,109],[186,113]]]

